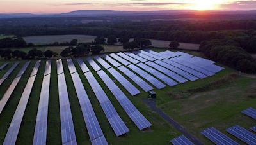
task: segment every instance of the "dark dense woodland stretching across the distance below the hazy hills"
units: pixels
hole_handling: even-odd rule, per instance
[[[26,18],[26,20],[26,23],[28,23],[33,18]],[[35,18],[35,20],[38,21],[40,18]],[[23,19],[18,18],[13,18],[9,25],[6,24],[6,20],[0,20],[0,34],[13,34],[15,36],[88,34],[98,36],[94,41],[95,44],[92,44],[93,46],[103,43],[113,45],[119,41],[128,50],[150,46],[148,39],[200,43],[200,51],[205,53],[207,57],[234,67],[239,71],[256,72],[255,60],[250,56],[250,53],[256,53],[256,20],[141,22],[120,20],[82,24],[81,20],[78,19],[74,22],[58,25],[47,23],[47,19],[43,20],[42,23],[32,23],[33,25],[25,23],[17,25],[17,22],[23,21]],[[111,38],[112,41],[105,42],[104,38]],[[141,39],[137,42],[135,39],[135,41],[128,43],[127,40],[130,38]],[[141,46],[141,44],[145,45]],[[24,46],[34,45],[24,43],[20,37],[0,40],[0,48]],[[72,46],[72,44],[71,42],[54,43],[47,46]],[[71,52],[74,52],[73,49],[67,48],[67,52],[71,55]],[[86,50],[84,53],[89,51],[91,50]]]

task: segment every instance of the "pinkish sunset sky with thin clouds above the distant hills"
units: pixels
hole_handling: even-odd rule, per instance
[[[0,13],[62,13],[74,10],[255,10],[246,0],[0,0]]]

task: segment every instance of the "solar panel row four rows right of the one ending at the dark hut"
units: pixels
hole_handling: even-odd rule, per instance
[[[179,69],[178,67],[174,67],[170,64],[167,64],[166,62],[162,62],[161,60],[156,60],[154,62],[163,67],[166,67],[167,69],[170,69],[173,72],[176,72],[177,74],[179,74],[180,76],[183,76],[184,78],[188,79],[189,81],[196,81],[198,79],[195,76],[193,76],[192,74],[189,74],[186,71],[182,71],[182,69]]]

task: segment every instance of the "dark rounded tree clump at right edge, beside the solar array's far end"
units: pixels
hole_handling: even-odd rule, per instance
[[[236,41],[218,39],[202,41],[200,51],[216,62],[221,62],[238,71],[256,73],[256,62]]]

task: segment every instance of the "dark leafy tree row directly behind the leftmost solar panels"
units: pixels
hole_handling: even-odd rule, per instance
[[[0,49],[0,57],[6,60],[10,59],[42,59],[45,58],[51,58],[56,57],[58,53],[52,52],[51,50],[46,50],[45,52],[42,52],[41,50],[37,50],[36,48],[33,48],[29,50],[28,53],[20,50],[10,50],[10,49]]]

